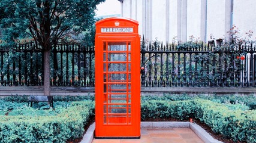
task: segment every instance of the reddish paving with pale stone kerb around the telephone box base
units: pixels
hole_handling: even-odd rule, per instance
[[[141,122],[140,130],[140,139],[94,139],[94,123],[80,143],[223,143],[214,139],[199,125],[190,122]]]

